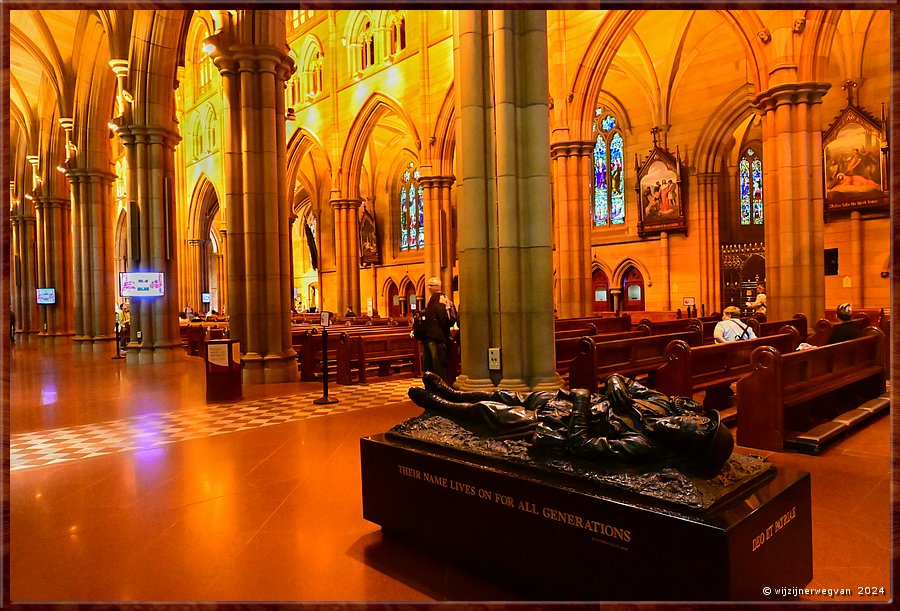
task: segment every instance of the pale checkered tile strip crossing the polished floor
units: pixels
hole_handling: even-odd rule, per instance
[[[21,433],[10,439],[10,471],[390,405],[404,401],[409,387],[421,384],[420,380],[406,378],[365,387],[338,386],[329,393],[338,402],[330,405],[313,403],[322,396],[321,392],[298,393],[272,399],[209,405],[198,410],[142,414],[123,420]]]

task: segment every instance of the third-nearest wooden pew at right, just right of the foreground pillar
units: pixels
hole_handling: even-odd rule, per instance
[[[582,338],[578,343],[578,353],[569,365],[569,388],[597,392],[606,377],[614,373],[632,378],[647,374],[651,377],[648,384],[652,386],[652,374],[665,362],[666,346],[673,341],[700,346],[703,337],[695,327],[679,333],[612,341]]]

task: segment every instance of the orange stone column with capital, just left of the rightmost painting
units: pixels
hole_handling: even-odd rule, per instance
[[[768,316],[825,314],[822,96],[827,83],[786,83],[756,96],[762,116]]]

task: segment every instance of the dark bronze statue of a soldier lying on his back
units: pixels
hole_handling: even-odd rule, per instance
[[[409,389],[416,405],[454,421],[486,426],[497,441],[519,439],[535,449],[594,461],[641,463],[675,459],[704,475],[717,474],[734,448],[719,414],[701,414],[685,397],[667,397],[621,375],[604,394],[571,392],[460,392],[432,372],[425,388]]]

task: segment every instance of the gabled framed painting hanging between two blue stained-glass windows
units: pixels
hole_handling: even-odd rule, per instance
[[[654,147],[646,159],[639,161],[635,156],[638,235],[659,235],[663,231],[686,234],[687,200],[681,159],[657,146],[655,140],[654,135]]]

